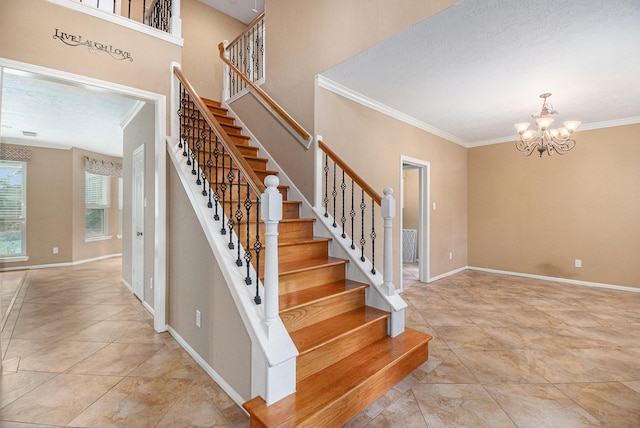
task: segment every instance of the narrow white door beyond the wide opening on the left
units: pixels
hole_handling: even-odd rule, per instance
[[[133,250],[131,253],[131,270],[133,293],[144,300],[144,146],[133,152]]]

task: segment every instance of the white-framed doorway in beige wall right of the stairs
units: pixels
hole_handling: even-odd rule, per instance
[[[415,275],[420,282],[429,282],[430,164],[401,156],[400,174],[400,266],[412,269],[400,275],[402,291],[405,273],[410,278]]]

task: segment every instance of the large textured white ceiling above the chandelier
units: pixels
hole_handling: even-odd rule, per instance
[[[544,92],[556,123],[640,122],[640,1],[463,0],[321,74],[467,147],[513,141]]]

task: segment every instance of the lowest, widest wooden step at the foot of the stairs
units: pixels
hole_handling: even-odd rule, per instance
[[[382,377],[387,370],[412,359],[414,353],[420,353],[420,359],[424,360],[426,355],[422,354],[426,354],[429,340],[431,336],[408,328],[397,337],[380,339],[309,376],[298,383],[295,393],[271,406],[267,407],[261,397],[256,397],[244,403],[243,407],[255,418],[257,426],[342,425],[386,392],[388,387]],[[416,363],[411,363],[413,361],[403,371],[409,370],[410,373],[415,369],[412,366]],[[365,391],[366,388],[373,391]],[[358,394],[366,395],[368,400],[362,403],[361,408],[347,411],[339,419],[341,415],[336,414],[336,410],[347,410],[339,402],[346,396]],[[327,412],[331,414],[323,415]]]

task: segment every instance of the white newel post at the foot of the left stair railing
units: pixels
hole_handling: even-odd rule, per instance
[[[275,175],[264,179],[267,189],[262,194],[260,215],[265,224],[264,322],[267,336],[278,319],[278,223],[282,220],[280,180]]]

